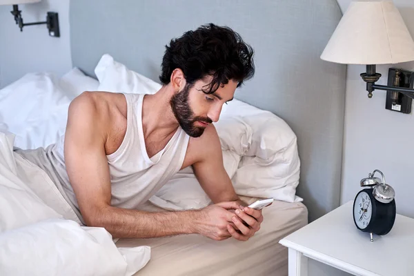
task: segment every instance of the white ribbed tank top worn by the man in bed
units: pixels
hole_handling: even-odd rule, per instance
[[[112,206],[136,208],[155,195],[183,165],[189,136],[181,127],[168,144],[148,157],[142,128],[144,95],[125,94],[127,128],[118,150],[107,155],[112,183]]]

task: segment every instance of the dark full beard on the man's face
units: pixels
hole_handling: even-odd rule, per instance
[[[194,116],[193,110],[188,103],[188,95],[190,94],[190,86],[188,83],[183,90],[175,94],[170,99],[170,106],[174,112],[179,126],[190,136],[200,137],[204,133],[205,126],[195,126],[196,121],[203,121],[211,124],[213,121],[208,117]]]

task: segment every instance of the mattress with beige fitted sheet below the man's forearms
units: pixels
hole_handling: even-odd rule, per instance
[[[257,198],[241,197],[249,204]],[[146,202],[140,210],[163,210]],[[165,211],[165,210],[164,210]],[[119,239],[118,247],[150,246],[150,262],[135,275],[288,275],[288,250],[279,240],[308,223],[302,202],[274,201],[261,229],[247,242],[201,235]]]

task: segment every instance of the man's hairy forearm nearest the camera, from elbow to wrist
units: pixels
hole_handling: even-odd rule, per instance
[[[197,211],[151,213],[108,206],[94,215],[92,226],[114,238],[149,238],[197,233]]]

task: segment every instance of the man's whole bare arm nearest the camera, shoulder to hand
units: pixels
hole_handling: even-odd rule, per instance
[[[161,237],[200,233],[213,239],[227,238],[226,208],[149,213],[110,205],[111,186],[106,142],[110,140],[108,106],[95,92],[84,92],[70,104],[65,137],[65,163],[83,219],[88,226],[106,228],[113,237]],[[231,204],[230,204],[231,205]],[[227,233],[227,234],[226,234]]]

